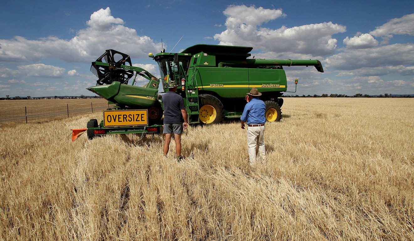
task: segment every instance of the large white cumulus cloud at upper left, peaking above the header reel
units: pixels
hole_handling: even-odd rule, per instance
[[[131,57],[147,57],[148,52],[161,49],[148,36],[139,36],[135,29],[111,15],[109,7],[91,14],[88,27],[70,40],[47,36],[29,40],[21,36],[0,39],[0,62],[29,62],[55,58],[66,62],[90,62],[106,49],[128,53]]]

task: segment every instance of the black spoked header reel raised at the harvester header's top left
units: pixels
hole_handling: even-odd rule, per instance
[[[106,50],[91,64],[91,72],[99,78],[96,85],[112,84],[113,81],[128,84],[128,80],[134,76],[134,71],[121,68],[121,65],[128,64],[132,66],[129,55],[112,49]]]

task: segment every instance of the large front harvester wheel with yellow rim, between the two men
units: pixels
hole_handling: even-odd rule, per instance
[[[214,95],[199,95],[200,98],[200,114],[198,118],[202,124],[218,124],[223,120],[224,107],[223,104]]]

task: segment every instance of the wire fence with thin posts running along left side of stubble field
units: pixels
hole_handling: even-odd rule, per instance
[[[53,107],[11,107],[7,108],[7,111],[0,111],[0,123],[8,122],[10,124],[21,124],[42,122],[72,117],[83,113],[103,111],[108,108],[108,104],[93,104],[92,102],[90,104],[65,104]]]

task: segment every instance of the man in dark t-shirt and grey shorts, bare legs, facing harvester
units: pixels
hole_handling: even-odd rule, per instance
[[[179,162],[183,157],[181,156],[181,134],[184,129],[187,129],[187,112],[185,111],[183,97],[176,93],[177,83],[170,81],[167,83],[168,92],[162,96],[162,103],[164,105],[164,156],[167,156],[170,149],[170,142],[172,133],[174,133],[174,140],[176,141],[177,161]],[[184,121],[183,121],[184,119]]]

